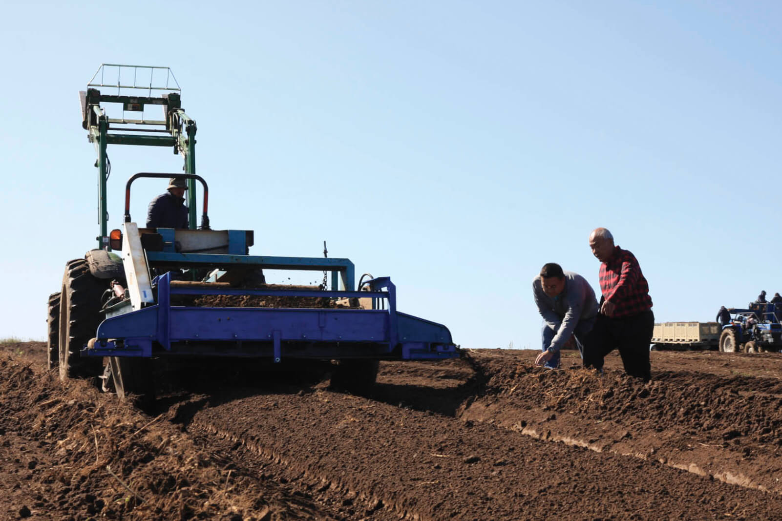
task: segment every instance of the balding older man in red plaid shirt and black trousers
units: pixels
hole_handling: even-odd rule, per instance
[[[649,345],[655,329],[649,285],[633,253],[614,246],[605,228],[590,235],[592,253],[601,261],[603,296],[594,329],[584,345],[584,365],[600,371],[605,355],[619,349],[625,372],[648,382],[651,379]]]

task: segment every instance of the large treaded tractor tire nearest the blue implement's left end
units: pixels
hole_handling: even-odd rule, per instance
[[[90,273],[87,260],[70,260],[63,275],[59,300],[59,378],[88,378],[100,375],[98,357],[81,358],[81,348],[95,336],[102,322],[100,299],[108,281]]]

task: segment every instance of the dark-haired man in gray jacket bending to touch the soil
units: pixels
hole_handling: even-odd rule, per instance
[[[533,280],[533,295],[543,317],[543,352],[535,364],[555,369],[559,367],[559,350],[570,337],[575,335],[583,344],[584,337],[592,330],[597,317],[597,299],[586,278],[562,271],[553,262],[545,264]]]

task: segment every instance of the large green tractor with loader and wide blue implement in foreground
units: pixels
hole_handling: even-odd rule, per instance
[[[121,104],[122,117],[107,116],[102,103]],[[153,105],[161,106],[164,120],[144,118],[144,107]],[[103,64],[81,92],[81,110],[98,156],[100,235],[95,250],[66,264],[62,288],[48,300],[48,362],[61,379],[98,377],[120,397],[148,397],[152,366],[160,360],[255,358],[274,365],[309,359],[332,364],[332,386],[365,392],[380,360],[459,356],[444,325],[396,310],[390,278],[362,275],[357,286],[348,259],[250,255],[252,231],[210,229],[209,188],[195,174],[195,121],[181,108],[167,67]],[[126,117],[139,112],[140,119]],[[109,144],[172,147],[185,160],[185,174],[131,176],[124,222],[111,232]],[[130,200],[138,178],[185,178],[188,228],[137,225]],[[199,228],[196,182],[203,188]],[[267,285],[263,269],[323,271],[324,283]]]

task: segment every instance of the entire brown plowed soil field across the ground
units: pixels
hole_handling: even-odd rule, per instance
[[[142,411],[44,352],[0,352],[2,519],[782,516],[780,354],[653,352],[643,383],[468,350],[368,397],[206,369]]]

